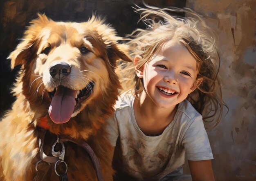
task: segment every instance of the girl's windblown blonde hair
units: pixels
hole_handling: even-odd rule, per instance
[[[130,55],[135,58],[141,56],[136,69],[142,67],[146,61],[151,60],[162,45],[170,40],[181,42],[197,60],[198,78],[203,78],[202,83],[187,99],[193,107],[203,116],[206,122],[218,124],[222,116],[222,92],[218,71],[220,57],[215,46],[215,34],[204,20],[191,9],[177,7],[157,8],[145,4],[147,8],[137,7],[135,11],[141,13],[141,19],[147,29],[137,29],[127,36],[128,45],[131,47]],[[186,13],[189,18],[171,16],[170,13]],[[194,16],[195,18],[192,18]],[[122,85],[124,91],[134,90],[137,96],[144,89],[143,79],[138,78],[133,63],[120,65]]]

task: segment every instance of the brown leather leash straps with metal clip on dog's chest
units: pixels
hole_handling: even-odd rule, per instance
[[[40,160],[36,163],[37,174],[36,174],[36,177],[34,177],[34,181],[44,180],[45,175],[47,174],[49,168],[51,167],[51,163],[55,163],[54,170],[55,170],[56,174],[60,177],[60,181],[68,181],[67,163],[65,163],[65,161],[64,161],[65,146],[64,146],[63,142],[65,142],[65,141],[70,141],[72,143],[75,143],[75,144],[81,146],[86,152],[88,152],[88,154],[90,155],[90,159],[92,160],[92,163],[94,165],[94,169],[96,171],[97,180],[98,181],[104,181],[99,160],[98,160],[97,156],[95,155],[95,153],[93,152],[90,145],[88,145],[88,143],[86,143],[83,140],[76,141],[76,140],[70,139],[67,136],[62,135],[62,134],[57,135],[57,140],[55,141],[54,145],[52,146],[52,155],[53,156],[47,156],[43,152],[44,138],[45,138],[45,134],[46,134],[47,130],[45,130],[42,127],[37,127],[37,129],[38,129],[38,143],[39,143]],[[54,151],[54,147],[56,146],[57,143],[60,143],[61,146],[62,146],[61,152],[55,152]],[[45,163],[47,163],[48,165],[45,164]],[[59,163],[64,163],[65,164],[66,171],[64,173],[58,173],[57,172],[56,167],[58,166]],[[40,166],[40,168],[38,169],[38,165],[43,165],[43,164],[44,164],[44,166],[43,167]]]

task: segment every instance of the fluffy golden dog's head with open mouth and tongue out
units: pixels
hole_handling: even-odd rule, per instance
[[[49,112],[54,123],[70,121],[86,106],[108,113],[120,88],[117,60],[131,61],[120,37],[94,16],[81,23],[38,16],[9,56],[12,68],[22,65],[22,93],[32,109]]]

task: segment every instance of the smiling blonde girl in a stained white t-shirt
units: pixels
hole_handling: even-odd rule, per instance
[[[128,44],[134,63],[121,66],[126,93],[109,120],[116,179],[176,181],[192,176],[212,181],[213,155],[203,120],[215,117],[218,123],[222,115],[213,34],[189,9],[147,7],[137,9],[148,29],[132,33],[135,38]],[[191,176],[182,175],[185,154]]]

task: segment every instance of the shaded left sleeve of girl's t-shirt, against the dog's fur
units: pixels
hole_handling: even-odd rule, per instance
[[[111,145],[116,146],[119,130],[115,114],[113,117],[108,119],[106,130],[108,132],[108,140],[110,141]]]

